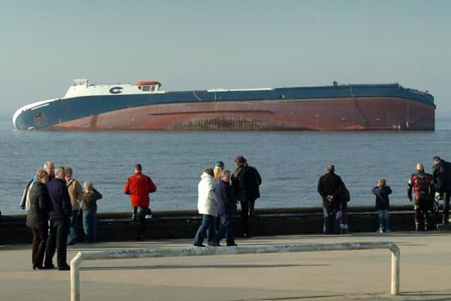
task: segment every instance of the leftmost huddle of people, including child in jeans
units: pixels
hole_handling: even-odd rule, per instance
[[[72,176],[70,166],[55,168],[47,161],[25,188],[20,206],[28,210],[26,223],[33,235],[32,269],[55,269],[56,252],[58,270],[70,270],[67,245],[77,241],[79,215],[85,242],[96,242],[97,200],[102,196],[92,182],[85,182],[83,190]]]

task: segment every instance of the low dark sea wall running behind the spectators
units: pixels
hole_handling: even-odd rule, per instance
[[[377,211],[374,207],[350,207],[348,210],[349,231],[373,232],[377,226]],[[25,226],[26,214],[0,216],[0,244],[28,243],[32,235]],[[429,215],[429,228],[435,229],[441,214]],[[99,213],[98,240],[135,240],[137,223],[131,220],[130,212]],[[202,221],[194,210],[153,211],[147,220],[146,239],[193,238]],[[390,208],[392,231],[413,231],[414,211],[412,205]],[[240,211],[235,219],[235,235],[240,237]],[[261,208],[255,209],[250,221],[250,235],[321,234],[323,209],[321,207]],[[82,233],[81,222],[79,232]]]

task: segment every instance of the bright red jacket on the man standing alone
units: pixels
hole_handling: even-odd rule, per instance
[[[144,173],[135,173],[125,182],[124,192],[130,195],[130,202],[135,207],[149,207],[149,193],[155,191],[154,182]]]

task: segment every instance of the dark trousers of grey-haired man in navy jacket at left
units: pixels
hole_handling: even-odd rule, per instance
[[[45,251],[45,264],[44,266],[51,266],[56,253],[56,264],[58,266],[67,265],[67,246],[68,231],[70,226],[69,219],[57,219],[50,221],[49,237],[47,238],[47,250]]]

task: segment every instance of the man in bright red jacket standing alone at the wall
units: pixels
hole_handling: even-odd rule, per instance
[[[142,173],[141,164],[135,164],[135,174],[125,182],[124,192],[130,195],[134,221],[139,221],[137,240],[144,240],[146,215],[149,214],[149,193],[155,192],[156,186],[149,176]]]

